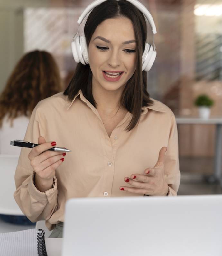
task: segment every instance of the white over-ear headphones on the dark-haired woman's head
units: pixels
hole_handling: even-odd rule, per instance
[[[87,14],[92,9],[94,9],[97,5],[99,5],[105,1],[106,0],[96,0],[96,1],[92,2],[83,11],[83,13],[81,14],[81,16],[79,17],[77,22],[79,24],[81,24],[83,19],[87,16]],[[127,0],[127,1],[132,3],[133,5],[135,5],[143,13],[143,15],[148,20],[148,22],[152,28],[154,50],[153,50],[153,46],[151,44],[145,43],[145,49],[144,49],[143,56],[142,56],[142,71],[143,70],[149,71],[151,69],[151,67],[153,66],[153,63],[156,58],[156,47],[154,44],[154,34],[156,34],[156,27],[154,24],[154,20],[153,20],[152,15],[150,14],[150,12],[139,1],[137,1],[137,0]],[[77,31],[77,33],[78,33],[78,31]],[[81,62],[83,65],[86,65],[89,63],[86,38],[84,35],[76,36],[77,33],[74,35],[73,40],[72,40],[72,45],[71,45],[72,46],[72,54],[73,54],[75,62],[77,62],[77,63]]]

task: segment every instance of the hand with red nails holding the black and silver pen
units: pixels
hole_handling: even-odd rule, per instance
[[[41,190],[51,187],[55,170],[64,161],[66,153],[49,151],[48,149],[55,147],[55,142],[46,142],[45,138],[40,136],[38,138],[38,146],[33,147],[28,158],[30,164],[35,171],[35,181],[41,187]],[[38,188],[38,187],[37,187]]]

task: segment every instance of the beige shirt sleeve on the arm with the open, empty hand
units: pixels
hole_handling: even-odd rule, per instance
[[[177,195],[180,185],[180,168],[177,124],[174,114],[171,116],[170,135],[165,157],[165,180],[170,191],[169,196]]]

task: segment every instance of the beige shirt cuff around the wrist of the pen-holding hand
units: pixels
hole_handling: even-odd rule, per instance
[[[53,177],[53,188],[46,190],[45,192],[39,191],[34,185],[34,171],[30,176],[28,183],[29,194],[39,202],[49,202],[51,203],[56,191],[57,191],[57,179],[56,176]]]

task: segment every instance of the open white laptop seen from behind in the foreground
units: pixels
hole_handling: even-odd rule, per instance
[[[62,256],[221,256],[222,195],[76,198]]]

